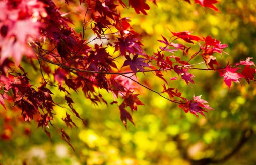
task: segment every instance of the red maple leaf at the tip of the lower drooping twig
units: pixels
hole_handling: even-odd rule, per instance
[[[193,96],[193,100],[186,102],[185,104],[180,104],[180,108],[184,110],[185,113],[190,112],[193,115],[198,117],[198,113],[205,117],[204,112],[207,112],[205,109],[214,110],[208,105],[208,102],[201,99],[200,96]]]

